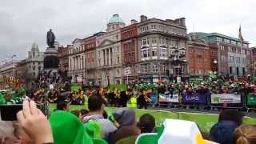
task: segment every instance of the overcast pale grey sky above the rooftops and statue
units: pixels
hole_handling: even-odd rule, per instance
[[[194,27],[234,38],[241,23],[244,39],[255,46],[255,7],[255,0],[0,0],[0,60],[12,54],[26,58],[33,42],[45,50],[50,28],[62,45],[106,30],[112,14],[120,14],[126,24],[141,14],[185,17],[188,33]]]

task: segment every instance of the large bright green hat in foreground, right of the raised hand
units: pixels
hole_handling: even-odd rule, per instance
[[[54,144],[93,144],[82,122],[74,114],[55,111],[49,121]]]

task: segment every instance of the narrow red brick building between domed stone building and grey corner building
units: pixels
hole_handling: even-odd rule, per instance
[[[136,64],[138,63],[138,22],[131,20],[129,26],[121,29],[122,66],[130,67],[129,81],[138,78]],[[126,81],[122,77],[124,81]]]

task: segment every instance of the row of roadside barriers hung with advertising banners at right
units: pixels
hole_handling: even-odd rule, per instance
[[[157,94],[157,102],[150,103],[158,106],[174,106],[175,108],[190,109],[199,108],[199,110],[209,109],[238,109],[256,110],[256,94],[232,93],[232,94],[210,94],[210,93],[195,93],[195,94]]]

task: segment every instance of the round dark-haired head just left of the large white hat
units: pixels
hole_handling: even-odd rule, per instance
[[[151,114],[143,114],[139,118],[138,126],[141,129],[141,133],[152,133],[155,128],[155,119]]]

